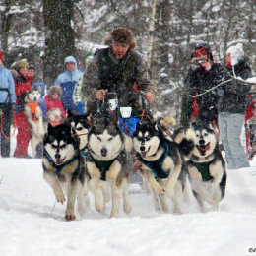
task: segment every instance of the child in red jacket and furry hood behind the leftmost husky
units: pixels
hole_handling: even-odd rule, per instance
[[[51,120],[52,125],[56,125],[61,123],[63,119],[66,118],[66,111],[60,100],[60,96],[62,95],[62,89],[59,86],[52,86],[48,90],[48,94],[44,96],[44,101],[46,103],[47,112],[54,108],[59,108],[61,112],[61,116],[56,116],[55,120]]]

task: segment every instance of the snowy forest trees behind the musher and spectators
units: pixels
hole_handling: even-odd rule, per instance
[[[256,70],[255,0],[0,0],[0,50],[5,66],[23,58],[47,87],[73,55],[87,57],[117,26],[131,29],[158,87],[155,108],[180,116],[183,81],[198,42],[211,46],[216,62],[241,42]]]

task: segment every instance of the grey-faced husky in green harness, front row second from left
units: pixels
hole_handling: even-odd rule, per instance
[[[122,198],[124,212],[130,213],[128,185],[132,166],[127,152],[132,141],[122,133],[115,117],[96,119],[88,134],[88,148],[89,188],[95,194],[96,211],[103,212],[112,197],[110,217],[118,217]]]

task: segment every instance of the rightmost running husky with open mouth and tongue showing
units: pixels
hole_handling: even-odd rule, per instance
[[[219,149],[218,139],[211,124],[193,124],[189,129],[181,129],[175,140],[194,133],[195,147],[188,160],[189,180],[201,212],[206,212],[205,201],[219,209],[224,198],[226,184],[225,162]]]

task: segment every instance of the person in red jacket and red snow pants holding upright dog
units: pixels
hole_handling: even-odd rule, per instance
[[[18,76],[14,78],[16,94],[16,123],[18,129],[14,157],[31,158],[28,155],[28,146],[32,136],[32,128],[23,110],[24,98],[26,93],[32,87],[32,81],[27,79],[29,64],[27,61],[20,60],[15,64],[14,68],[18,71]]]

